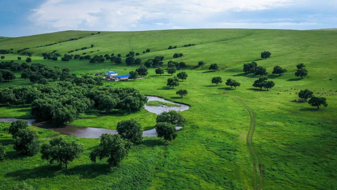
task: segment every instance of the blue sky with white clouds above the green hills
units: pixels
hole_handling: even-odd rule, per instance
[[[0,36],[64,30],[337,28],[337,0],[1,0]]]

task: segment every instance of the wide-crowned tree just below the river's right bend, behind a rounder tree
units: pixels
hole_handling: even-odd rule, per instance
[[[184,127],[187,123],[185,117],[180,112],[174,110],[162,112],[157,116],[156,121],[157,123],[167,122],[180,127]]]

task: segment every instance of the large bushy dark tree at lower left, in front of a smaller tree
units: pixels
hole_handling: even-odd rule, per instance
[[[40,145],[35,131],[30,131],[29,129],[19,130],[16,133],[13,148],[22,155],[32,156],[38,153]]]

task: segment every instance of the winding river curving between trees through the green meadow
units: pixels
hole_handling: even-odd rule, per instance
[[[167,106],[147,106],[145,105],[144,108],[149,112],[160,114],[164,111],[176,110],[176,111],[184,111],[187,110],[190,106],[185,104],[179,104],[175,102],[167,101],[163,98],[156,97],[156,96],[146,96],[149,101],[160,101],[166,102],[171,104],[179,105],[179,107],[167,107]],[[3,122],[12,122],[18,120],[17,118],[0,118],[0,121]],[[40,127],[43,129],[50,129],[55,132],[59,132],[62,135],[70,135],[76,137],[84,137],[84,138],[99,138],[103,133],[111,133],[111,134],[118,134],[116,130],[112,129],[102,129],[102,128],[94,128],[94,127],[77,127],[77,126],[64,126],[64,127],[55,127],[51,121],[44,121],[38,122],[36,119],[22,119],[28,122],[28,125]],[[176,127],[177,130],[180,130],[181,127]],[[150,129],[147,131],[143,131],[143,137],[151,137],[157,136],[156,129]]]

